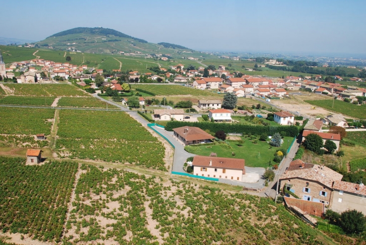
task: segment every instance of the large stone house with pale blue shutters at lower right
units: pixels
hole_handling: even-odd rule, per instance
[[[333,202],[333,183],[340,181],[343,175],[330,168],[305,163],[296,159],[280,177],[280,189],[286,189],[300,199],[324,203],[331,207]]]

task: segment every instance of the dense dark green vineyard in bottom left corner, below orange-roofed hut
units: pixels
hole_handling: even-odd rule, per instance
[[[78,165],[27,166],[24,158],[0,157],[0,229],[59,241]]]

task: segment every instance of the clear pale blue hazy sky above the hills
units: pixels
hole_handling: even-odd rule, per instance
[[[0,37],[110,28],[199,51],[366,54],[365,0],[3,1]]]

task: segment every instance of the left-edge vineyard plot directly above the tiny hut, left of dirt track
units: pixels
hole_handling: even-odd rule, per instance
[[[54,109],[0,107],[2,134],[51,133]]]

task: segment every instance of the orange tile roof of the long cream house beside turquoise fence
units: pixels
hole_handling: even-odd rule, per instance
[[[210,165],[211,163],[211,165]],[[227,157],[195,156],[193,166],[242,170],[245,174],[245,160]]]

